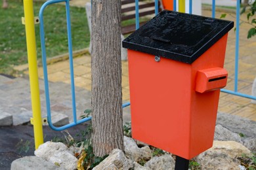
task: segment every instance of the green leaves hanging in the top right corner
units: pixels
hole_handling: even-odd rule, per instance
[[[252,18],[256,12],[256,0],[254,2],[251,1],[247,5],[244,6],[244,8],[241,10],[240,14],[244,14],[247,9],[249,9],[249,12],[247,13],[247,24],[252,25],[251,29],[249,29],[247,33],[247,39],[250,39],[256,34],[256,19]],[[252,18],[252,19],[251,19]],[[250,21],[251,19],[251,21]]]

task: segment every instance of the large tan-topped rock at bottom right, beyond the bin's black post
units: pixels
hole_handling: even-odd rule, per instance
[[[251,156],[251,152],[235,141],[214,141],[213,147],[206,150],[195,160],[201,169],[240,169],[240,161],[236,158],[245,154]]]

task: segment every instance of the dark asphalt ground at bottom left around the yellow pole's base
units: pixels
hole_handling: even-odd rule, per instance
[[[75,139],[79,139],[85,125],[78,125],[68,129]],[[64,131],[53,131],[43,126],[44,142],[53,139],[65,140]],[[26,152],[25,152],[26,150]],[[35,150],[33,126],[3,126],[0,127],[0,170],[11,169],[12,161],[24,156],[33,156]]]

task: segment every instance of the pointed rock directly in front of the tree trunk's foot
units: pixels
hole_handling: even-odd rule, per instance
[[[125,158],[125,154],[119,149],[114,149],[110,155],[96,165],[93,170],[104,170],[104,169],[122,169],[129,170],[133,167],[133,161]]]

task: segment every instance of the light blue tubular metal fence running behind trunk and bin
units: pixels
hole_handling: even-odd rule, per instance
[[[68,51],[69,51],[69,61],[70,61],[70,80],[71,80],[71,92],[72,92],[72,110],[74,122],[67,124],[61,127],[53,126],[51,122],[51,103],[49,96],[49,83],[47,76],[47,58],[46,58],[46,50],[45,50],[45,31],[43,27],[43,12],[48,5],[54,3],[66,3],[66,20],[67,20],[67,30],[68,30]],[[215,0],[212,1],[212,17],[215,18]],[[177,1],[173,1],[173,10],[177,10]],[[135,0],[135,16],[136,16],[136,29],[139,29],[139,0]],[[192,14],[192,0],[189,0],[189,13]],[[155,14],[158,14],[158,0],[155,0]],[[72,37],[71,37],[71,25],[70,25],[70,5],[69,0],[50,0],[43,4],[39,11],[39,20],[40,20],[40,37],[41,37],[41,50],[42,50],[42,60],[43,60],[43,76],[45,81],[45,98],[47,105],[47,120],[49,126],[56,130],[61,131],[67,129],[72,126],[76,126],[77,124],[81,124],[83,122],[87,122],[91,120],[89,118],[83,118],[81,120],[77,120],[76,109],[75,109],[75,85],[74,85],[74,67],[73,67],[73,56],[72,56]],[[252,95],[247,95],[245,93],[238,92],[238,62],[239,62],[239,22],[240,21],[240,1],[237,1],[236,5],[236,54],[235,54],[235,75],[234,75],[234,91],[232,90],[221,90],[221,92],[230,93],[232,95],[238,95],[241,97],[246,97],[249,99],[255,99],[256,97]],[[130,102],[123,104],[123,107],[127,107],[130,105]]]

